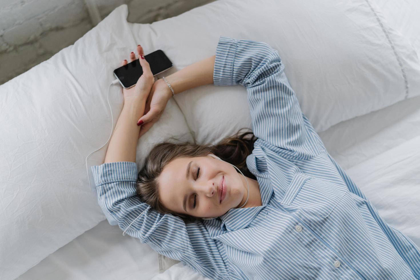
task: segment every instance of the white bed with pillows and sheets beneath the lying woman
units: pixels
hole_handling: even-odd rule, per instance
[[[263,21],[262,17],[268,18],[266,21],[273,20],[264,13],[268,8],[255,10],[254,16],[261,17],[258,21],[250,17],[251,1],[248,3],[251,7],[248,7],[238,5],[238,1],[219,0],[151,25],[128,23],[126,21],[128,8],[126,5],[121,5],[98,24],[95,30],[89,31],[90,33],[79,39],[74,46],[63,49],[50,60],[0,86],[0,98],[3,98],[0,101],[8,105],[7,108],[3,106],[0,113],[2,119],[6,120],[2,122],[0,132],[2,135],[9,135],[6,139],[0,140],[3,141],[0,142],[0,147],[2,147],[0,179],[5,182],[2,186],[4,196],[2,197],[3,213],[1,215],[3,216],[1,218],[3,219],[0,219],[3,221],[0,229],[2,279],[205,278],[184,263],[157,254],[147,244],[141,244],[131,236],[123,236],[118,227],[110,226],[95,201],[95,192],[91,191],[84,160],[87,158],[86,164],[89,170],[90,166],[100,165],[103,162],[106,145],[100,147],[110,135],[112,121],[115,126],[118,114],[121,112],[122,96],[118,96],[118,90],[113,88],[113,92],[110,93],[113,118],[108,110],[106,95],[109,83],[113,80],[110,69],[122,60],[121,53],[129,53],[127,50],[131,51],[137,43],[144,46],[143,42],[147,40],[152,47],[148,51],[145,50],[145,53],[158,47],[162,48],[173,60],[175,67],[171,71],[177,71],[194,61],[212,55],[217,42],[215,38],[223,32],[226,36],[238,39],[256,39],[276,45],[285,62],[286,76],[297,94],[302,112],[308,116],[316,128],[329,154],[346,170],[386,222],[420,246],[420,173],[418,172],[420,168],[420,63],[417,56],[420,51],[420,37],[418,36],[420,29],[416,29],[419,25],[414,24],[420,5],[414,1],[407,1],[398,6],[379,0],[356,2],[352,6],[344,1],[330,1],[329,3],[322,1],[322,5],[308,2],[305,4],[310,6],[307,7],[307,11],[314,11],[312,5],[318,5],[320,8],[315,11],[316,16],[307,19],[308,14],[304,14],[305,9],[296,9],[302,3],[279,5],[276,1],[265,1],[265,5],[271,10],[296,11],[289,18],[278,19],[283,25],[290,24],[289,26],[283,27],[276,22],[279,33],[290,32],[294,35],[286,38],[287,43],[271,39],[270,30],[266,32],[242,31],[240,27],[245,24],[244,18],[249,18],[247,21],[249,26],[261,24],[259,20]],[[304,37],[302,35],[304,33],[297,34],[299,30],[303,32],[302,22],[311,22],[314,18],[319,18],[319,21],[323,22],[328,21],[326,17],[323,17],[327,16],[328,9],[325,9],[325,6],[328,5],[331,11],[335,12],[341,7],[342,13],[347,16],[344,18],[358,16],[363,19],[351,20],[350,22],[354,25],[346,26],[349,30],[353,28],[351,30],[354,34],[358,34],[357,30],[372,32],[368,35],[374,38],[373,42],[378,43],[378,46],[381,45],[379,42],[384,42],[383,49],[378,46],[368,49],[372,41],[366,41],[365,46],[357,46],[363,50],[357,47],[347,49],[347,52],[355,55],[354,59],[346,58],[345,49],[339,49],[338,44],[334,45],[334,50],[336,50],[334,55],[341,58],[341,66],[337,67],[342,67],[339,68],[337,75],[344,76],[332,75],[337,69],[331,68],[331,65],[335,64],[331,64],[330,68],[325,64],[324,67],[316,66],[316,62],[319,63],[320,59],[310,58],[314,53],[322,56],[324,60],[328,57],[331,50],[325,50],[326,44],[323,44],[325,41],[317,41],[319,37],[315,36]],[[226,21],[222,21],[223,14],[220,18],[215,16],[216,13],[220,14],[223,8],[236,16],[229,19],[229,26],[226,26]],[[238,15],[244,16],[239,18]],[[302,24],[300,25],[296,25],[296,22],[292,20],[297,16],[301,16]],[[193,27],[192,30],[196,30],[196,35],[201,37],[198,39],[192,37],[195,33],[186,30],[185,27],[191,26],[192,22],[204,26],[207,23],[202,23],[203,18],[208,21],[222,22],[216,25],[215,31],[210,31],[214,28],[208,27],[206,36],[197,35],[199,33],[197,27]],[[118,24],[118,32],[113,32],[111,28],[113,24]],[[184,28],[183,31],[176,31],[181,27]],[[249,28],[252,29],[252,27]],[[105,34],[107,30],[109,32]],[[259,35],[257,31],[260,31]],[[178,33],[169,35],[175,32]],[[255,37],[251,38],[252,35]],[[170,36],[179,36],[178,44],[179,42],[194,43],[198,47],[186,47],[185,52],[178,53],[176,50],[180,45],[168,41]],[[345,38],[343,35],[343,38],[339,37],[336,41],[345,40],[351,36],[352,34],[346,33]],[[129,39],[123,41],[121,39],[123,37],[129,37]],[[308,44],[297,46],[297,42],[302,42],[303,38],[311,39],[311,44],[306,42]],[[107,60],[104,62],[105,66],[102,65],[96,69],[95,73],[90,69],[77,73],[78,62],[71,61],[69,58],[77,57],[80,60],[86,58],[89,53],[85,49],[92,45],[92,42],[98,42],[93,47],[100,46],[98,47],[100,54],[102,58],[105,55]],[[321,45],[319,48],[315,45],[316,42]],[[386,45],[386,43],[390,44]],[[132,46],[127,47],[127,44]],[[294,46],[297,47],[296,52],[292,50]],[[202,47],[201,51],[196,49],[200,47]],[[306,50],[305,53],[302,52],[303,49]],[[373,50],[376,50],[375,55],[378,55],[378,58],[382,55],[381,62],[369,60],[374,56]],[[388,55],[386,51],[389,51]],[[92,61],[95,59],[98,57],[92,58]],[[357,69],[370,70],[370,72],[365,72],[368,73],[365,76],[369,79],[363,80],[361,76],[354,73],[355,68],[352,68],[354,65],[351,64],[354,60],[357,62]],[[375,63],[383,63],[381,65],[383,71],[377,71],[378,68],[369,68],[376,65]],[[391,65],[391,63],[394,64]],[[331,76],[328,79],[322,80],[325,72],[316,72],[317,70],[322,72],[323,69],[331,70]],[[42,70],[51,71],[50,73],[60,71],[58,77],[64,76],[66,79],[65,81],[60,78],[56,81],[46,78],[42,80],[37,76],[37,73],[39,74]],[[167,76],[173,73],[171,71],[157,75],[156,78]],[[314,75],[315,77],[312,77]],[[397,76],[398,78],[391,81],[386,80],[386,77]],[[92,81],[92,77],[96,80]],[[91,83],[88,83],[89,79]],[[319,81],[318,84],[314,84],[315,81]],[[357,86],[354,81],[357,81]],[[31,83],[32,85],[39,84],[36,87],[37,97],[42,99],[43,106],[37,105],[41,101],[32,98],[34,95],[25,95],[30,92]],[[45,84],[48,84],[48,88],[42,88]],[[383,86],[384,84],[386,87]],[[60,91],[50,94],[49,88],[52,86],[59,86]],[[350,86],[352,87],[349,89]],[[357,90],[363,88],[369,90],[367,92]],[[18,94],[12,96],[12,89]],[[168,103],[167,112],[162,115],[160,123],[156,123],[142,139],[139,139],[139,149],[136,153],[139,167],[142,166],[142,158],[150,151],[152,144],[163,141],[166,136],[176,135],[180,136],[180,142],[192,140],[204,144],[218,142],[241,127],[250,127],[249,110],[243,90],[241,86],[233,86],[215,92],[214,86],[209,85],[176,96]],[[332,95],[328,96],[325,93],[326,90]],[[44,95],[40,94],[41,92]],[[74,92],[81,92],[81,94],[77,95]],[[76,97],[68,97],[69,94],[74,94]],[[30,102],[25,102],[24,97]],[[220,113],[223,108],[216,111],[207,108],[212,107],[208,106],[209,104],[217,104],[220,98],[224,98],[228,104],[235,102],[236,107],[229,115]],[[17,103],[19,100],[21,102]],[[325,105],[326,100],[331,100],[337,109],[335,111],[329,109],[331,105]],[[13,108],[16,110],[13,111]],[[23,112],[22,109],[28,113],[20,113],[16,119],[11,118],[18,110]],[[57,119],[52,113],[58,116]],[[37,118],[28,120],[29,115]],[[47,115],[50,118],[47,118]],[[213,123],[207,122],[206,117],[215,115],[222,115],[220,118],[230,117],[235,121],[229,123],[229,126],[221,125],[217,118],[216,124],[214,120]],[[234,116],[241,118],[234,119]],[[177,121],[173,122],[173,119]],[[27,126],[25,120],[28,120]],[[59,126],[60,120],[68,121],[68,125],[63,129]],[[50,123],[51,126],[49,126]],[[57,131],[48,130],[52,127],[58,127]],[[31,133],[24,134],[24,129]],[[93,131],[88,133],[92,129]],[[45,141],[44,138],[37,137],[39,131],[56,138],[50,137],[49,141]],[[70,137],[66,131],[70,131],[68,132]],[[166,131],[167,135],[163,135],[161,131]],[[59,138],[58,136],[63,133],[65,134],[63,138]],[[26,136],[27,134],[32,138]],[[32,143],[37,146],[32,146]],[[73,146],[63,146],[66,149],[58,149],[62,143],[70,143]],[[84,146],[81,143],[85,143]],[[19,150],[22,146],[25,146],[25,150]],[[88,157],[89,152],[92,151],[95,152]],[[54,160],[56,157],[60,160]],[[53,170],[52,168],[56,165],[61,169]],[[19,176],[12,172],[21,172],[21,170],[31,168],[37,172],[37,176],[32,176],[31,173],[22,173]],[[42,177],[42,169],[51,171]],[[64,173],[66,170],[72,172]],[[61,173],[54,176],[56,172]],[[25,179],[28,177],[30,180]],[[38,186],[37,180],[40,178],[43,181]],[[31,192],[29,187],[35,188],[36,191],[43,190],[45,193],[42,196],[36,196],[37,194]],[[62,190],[63,188],[65,190]],[[63,193],[63,191],[66,192]],[[30,200],[32,203],[24,200],[32,197],[34,197]],[[59,202],[53,204],[55,201]],[[78,207],[74,207],[75,203]],[[50,211],[58,212],[59,215],[55,216]]]

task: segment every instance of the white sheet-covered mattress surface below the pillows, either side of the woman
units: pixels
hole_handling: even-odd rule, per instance
[[[420,247],[420,97],[338,123],[319,135],[384,220]],[[208,278],[123,236],[104,220],[17,279]]]

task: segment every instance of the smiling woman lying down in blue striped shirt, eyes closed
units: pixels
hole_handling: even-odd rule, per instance
[[[420,249],[328,154],[264,42],[220,36],[216,55],[166,77],[175,94],[245,86],[257,139],[159,144],[137,176],[137,136],[172,96],[139,60],[105,163],[92,167],[110,225],[211,279],[420,279]]]

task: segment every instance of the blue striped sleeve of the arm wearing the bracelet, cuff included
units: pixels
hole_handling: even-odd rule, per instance
[[[247,89],[252,131],[260,142],[290,159],[325,151],[284,73],[277,50],[264,42],[220,36],[213,84]]]

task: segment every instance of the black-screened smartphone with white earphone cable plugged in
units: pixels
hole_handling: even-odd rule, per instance
[[[148,55],[144,55],[144,58],[149,63],[153,76],[156,76],[157,74],[162,73],[163,71],[166,71],[173,66],[171,60],[169,60],[163,50],[156,50],[151,52]],[[143,69],[140,65],[139,59],[136,59],[114,70],[114,76],[120,81],[120,84],[123,86],[123,88],[129,89],[135,86],[140,76],[142,76]]]

